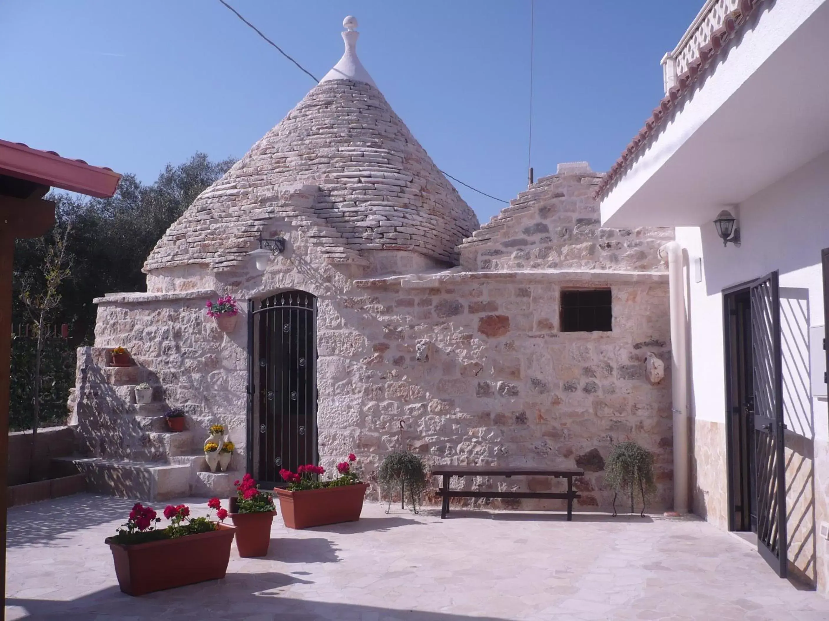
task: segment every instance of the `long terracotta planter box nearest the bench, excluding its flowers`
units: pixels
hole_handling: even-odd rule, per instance
[[[305,489],[288,492],[274,488],[279,509],[288,528],[308,528],[360,519],[368,484],[343,485],[338,488]]]

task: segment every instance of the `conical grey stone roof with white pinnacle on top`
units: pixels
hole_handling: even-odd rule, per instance
[[[458,263],[458,244],[478,219],[365,81],[357,33],[342,34],[347,53],[335,69],[193,201],[144,272],[235,269],[274,220],[305,230],[331,262],[361,262],[362,251],[388,248]]]

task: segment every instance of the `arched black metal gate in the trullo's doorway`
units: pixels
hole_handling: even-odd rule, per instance
[[[284,291],[258,306],[248,325],[250,462],[265,487],[284,484],[280,469],[318,460],[317,299]]]

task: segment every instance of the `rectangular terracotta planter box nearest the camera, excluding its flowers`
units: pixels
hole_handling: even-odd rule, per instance
[[[108,537],[105,543],[112,550],[121,590],[144,595],[224,578],[235,530],[220,524],[216,531],[159,542],[124,546]]]

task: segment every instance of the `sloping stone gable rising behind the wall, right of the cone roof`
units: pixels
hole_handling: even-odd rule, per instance
[[[673,229],[609,229],[594,192],[603,175],[584,164],[542,177],[460,247],[470,271],[539,269],[654,270]]]

